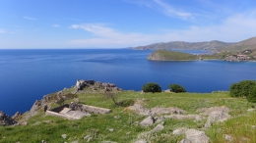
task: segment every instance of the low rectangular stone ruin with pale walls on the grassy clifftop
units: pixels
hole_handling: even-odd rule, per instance
[[[91,117],[91,114],[105,115],[110,112],[110,109],[71,103],[70,105],[65,104],[52,110],[48,110],[45,112],[45,115],[64,119],[82,119],[84,117]]]

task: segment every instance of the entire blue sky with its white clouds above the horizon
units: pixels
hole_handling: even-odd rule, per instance
[[[253,36],[255,0],[0,1],[0,49],[125,48]]]

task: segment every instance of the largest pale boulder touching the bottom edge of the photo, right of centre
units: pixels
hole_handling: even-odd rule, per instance
[[[199,131],[196,129],[188,129],[186,131],[186,139],[191,143],[210,143],[209,137],[204,131]]]

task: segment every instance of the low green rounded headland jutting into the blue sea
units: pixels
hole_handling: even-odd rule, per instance
[[[191,61],[198,60],[198,57],[188,53],[158,50],[150,54],[147,59],[151,61]]]

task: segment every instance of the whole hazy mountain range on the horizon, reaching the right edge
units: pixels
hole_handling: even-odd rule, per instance
[[[227,43],[213,40],[205,42],[171,41],[166,43],[154,43],[146,46],[130,47],[133,50],[210,50],[210,51],[234,51],[256,49],[256,37],[252,37],[236,43]]]

